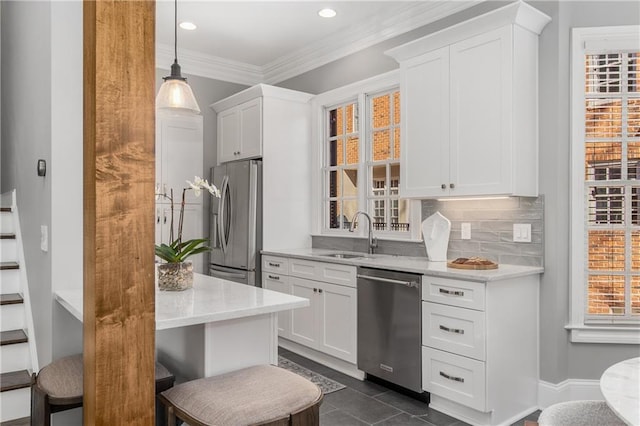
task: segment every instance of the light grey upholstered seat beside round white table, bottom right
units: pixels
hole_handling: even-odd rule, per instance
[[[570,401],[545,408],[540,426],[624,426],[604,401]]]

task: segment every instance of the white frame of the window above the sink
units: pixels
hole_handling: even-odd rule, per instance
[[[323,147],[326,137],[325,114],[326,108],[332,105],[339,105],[349,100],[357,99],[360,115],[368,114],[364,112],[367,109],[367,95],[382,92],[393,87],[400,87],[400,71],[394,70],[376,77],[362,80],[344,87],[340,87],[328,92],[321,93],[311,100],[311,167],[313,173],[311,176],[312,186],[312,234],[321,236],[340,236],[340,237],[366,237],[367,226],[358,226],[355,232],[351,233],[348,229],[328,229],[324,226],[325,206],[324,199],[324,177],[322,174]],[[358,209],[369,211],[367,205],[367,151],[366,141],[367,120],[358,120],[358,134],[360,135],[360,161],[358,163],[358,180],[362,184],[358,185]],[[374,235],[378,239],[383,240],[401,240],[401,241],[422,241],[420,233],[421,219],[421,203],[420,200],[409,200],[409,232],[389,232],[374,231]],[[359,219],[361,220],[361,219]]]

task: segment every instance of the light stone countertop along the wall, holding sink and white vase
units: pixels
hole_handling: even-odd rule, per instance
[[[358,254],[362,257],[335,258],[329,254],[347,253]],[[544,268],[539,266],[498,265],[498,269],[486,271],[453,269],[447,267],[446,262],[430,262],[426,257],[397,256],[390,254],[367,254],[348,252],[344,250],[329,250],[318,248],[263,250],[263,255],[285,256],[297,259],[307,259],[322,262],[342,263],[346,265],[365,266],[377,269],[390,269],[403,272],[413,272],[444,278],[459,278],[468,281],[488,282],[517,278],[527,275],[541,274]]]

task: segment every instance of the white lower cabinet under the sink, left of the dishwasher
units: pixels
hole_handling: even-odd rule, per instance
[[[288,268],[288,275],[284,275],[284,268]],[[262,269],[264,288],[310,302],[307,307],[280,314],[280,337],[355,364],[356,268],[267,255],[262,258]]]

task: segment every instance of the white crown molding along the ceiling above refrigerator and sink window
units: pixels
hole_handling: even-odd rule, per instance
[[[178,60],[185,74],[248,86],[259,83],[277,84],[483,1],[485,0],[412,3],[393,16],[350,27],[264,66],[186,49],[180,49]],[[158,44],[156,46],[156,66],[168,70],[172,63],[173,47],[168,44]]]

